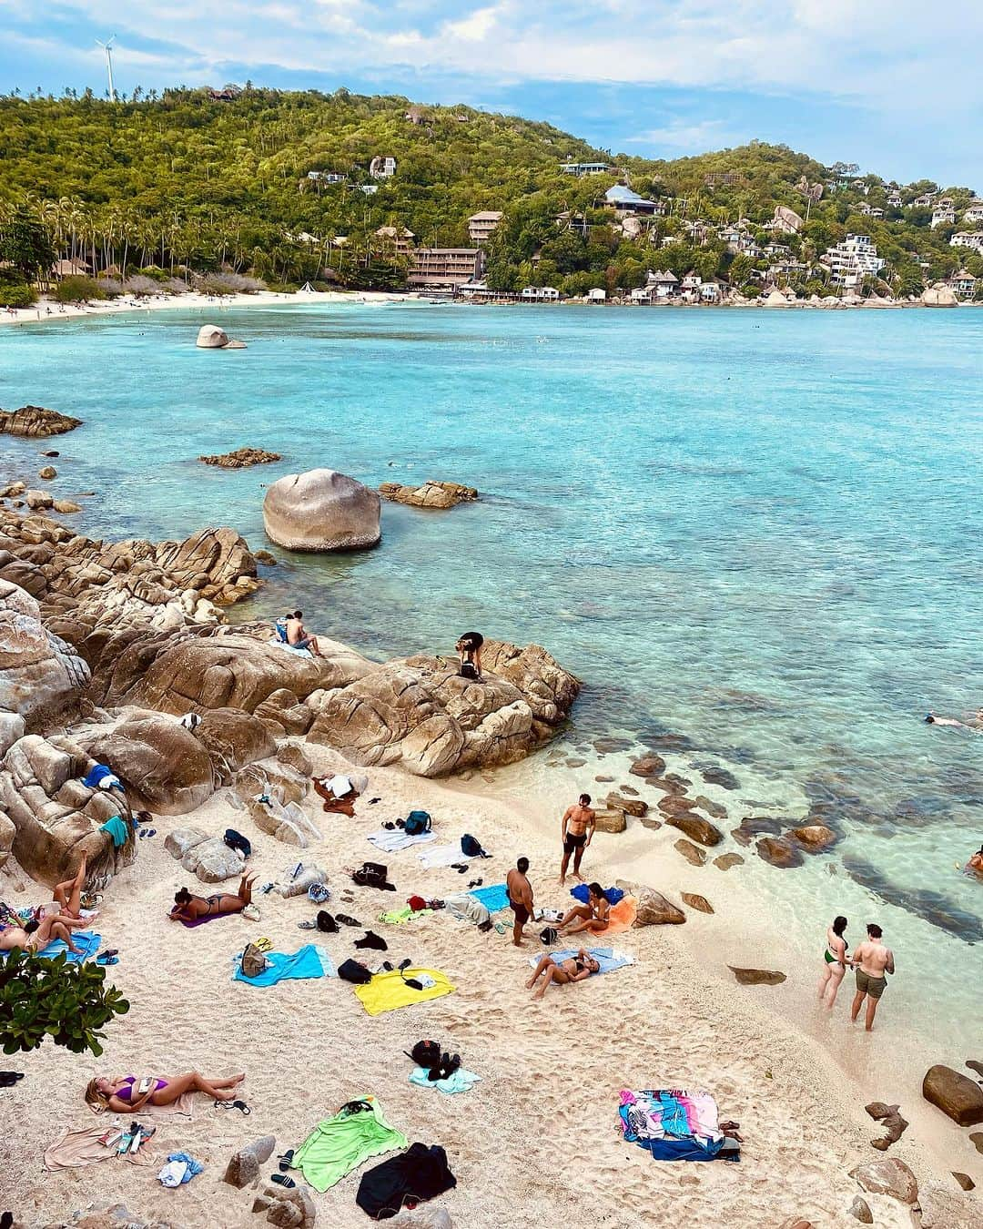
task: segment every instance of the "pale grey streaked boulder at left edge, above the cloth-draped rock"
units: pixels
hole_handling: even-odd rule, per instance
[[[31,594],[0,579],[0,709],[53,714],[76,701],[88,678],[88,665],[44,629]]]

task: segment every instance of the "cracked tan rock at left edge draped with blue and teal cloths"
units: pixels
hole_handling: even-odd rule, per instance
[[[15,828],[14,855],[25,871],[53,886],[79,868],[82,852],[88,882],[116,874],[136,857],[131,830],[116,848],[101,825],[128,807],[118,790],[86,789],[81,778],[92,758],[68,739],[28,734],[0,761],[0,812]],[[129,828],[129,825],[128,825]]]

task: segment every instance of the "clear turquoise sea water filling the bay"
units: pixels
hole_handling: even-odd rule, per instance
[[[204,318],[249,348],[195,350]],[[258,547],[263,483],[315,466],[479,487],[386,505],[377,551],[275,549],[241,613],[299,603],[378,655],[542,643],[586,682],[574,746],[686,735],[740,780],[732,817],[826,804],[840,876],[978,975],[983,884],[955,863],[983,842],[983,736],[923,717],[983,704],[983,311],[285,305],[0,334],[0,404],[86,420],[54,485],[98,490],[92,533]],[[246,444],[284,460],[194,460]],[[0,438],[0,476],[36,455]],[[777,905],[794,879],[768,875]]]

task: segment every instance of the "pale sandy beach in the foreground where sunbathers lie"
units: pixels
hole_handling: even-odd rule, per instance
[[[306,751],[317,771],[345,767],[335,753],[310,745]],[[901,1100],[911,1120],[888,1155],[918,1176],[923,1219],[888,1196],[867,1195],[874,1223],[897,1229],[979,1224],[976,1196],[962,1193],[949,1172],[963,1170],[983,1180],[965,1132],[918,1104],[915,1073],[893,1067],[890,1050],[870,1058],[879,1035],[850,1030],[848,984],[837,1005],[837,1040],[812,1035],[809,1004],[817,962],[789,965],[793,954],[783,949],[775,919],[754,917],[737,885],[730,878],[725,882],[720,871],[687,868],[672,852],[678,836],[672,828],[651,832],[629,821],[624,834],[598,834],[584,870],[605,885],[630,873],[673,901],[681,889],[698,891],[716,912],[688,909],[684,925],[616,936],[613,944],[636,957],[632,967],[550,988],[542,1002],[531,1002],[523,988],[528,956],[543,950],[536,939],[520,951],[509,933],[480,934],[442,912],[403,927],[377,922],[381,909],[401,906],[413,892],[445,896],[479,875],[485,884],[500,882],[519,854],[531,859],[538,905],[569,902],[557,882],[558,833],[574,778],[537,768],[542,793],[528,790],[527,806],[519,809],[503,801],[503,783],[515,772],[528,773],[530,764],[450,784],[370,769],[355,819],[322,815],[313,795],[305,804],[323,836],[305,857],[329,873],[334,898],[328,908],[381,933],[394,964],[410,956],[456,986],[448,997],[377,1018],[366,1015],[353,988],[338,980],[288,981],[268,989],[231,981],[235,956],[259,935],[279,951],[316,939],[335,966],[362,955],[353,948],[360,930],[319,935],[297,929],[299,921],[316,912],[306,896],[257,893],[259,922],[230,917],[184,929],[166,917],[182,884],[203,895],[211,890],[165,852],[172,828],[194,823],[217,834],[230,823],[241,826],[253,841],[258,884],[280,879],[296,860],[294,848],[258,832],[221,793],[194,815],[155,819],[156,836],[140,842],[136,863],[107,889],[97,927],[104,945],[119,949],[111,980],[131,1009],[108,1027],[101,1059],[45,1045],[9,1061],[26,1078],[0,1090],[0,1207],[12,1206],[29,1225],[61,1224],[74,1212],[118,1202],[135,1215],[171,1225],[262,1224],[249,1211],[254,1192],[221,1181],[230,1155],[274,1134],[276,1149],[263,1174],[275,1172],[276,1154],[296,1148],[343,1102],[374,1094],[410,1142],[446,1148],[457,1187],[436,1202],[458,1229],[559,1227],[571,1203],[578,1217],[608,1229],[639,1223],[759,1229],[795,1215],[821,1229],[849,1227],[856,1224],[848,1209],[859,1187],[848,1171],[881,1155],[870,1141],[882,1131],[864,1112],[864,1104],[877,1099]],[[381,801],[370,805],[374,796]],[[549,814],[541,806],[547,796]],[[414,849],[377,855],[366,833],[414,804],[431,814],[441,843],[467,831],[493,859],[474,860],[458,875],[452,869],[421,871]],[[351,885],[344,868],[365,859],[388,864],[394,893]],[[17,905],[42,898],[31,884],[25,893],[12,892],[4,875],[0,886]],[[354,900],[343,903],[338,897],[345,889]],[[371,964],[383,959],[364,955]],[[778,987],[741,987],[727,962],[783,970],[789,980]],[[885,1014],[890,1007],[886,1000]],[[410,1085],[412,1063],[403,1052],[424,1037],[460,1052],[482,1082],[452,1097]],[[831,1050],[842,1050],[844,1062]],[[214,1078],[245,1070],[241,1095],[251,1116],[214,1109],[199,1096],[190,1121],[159,1120],[147,1145],[151,1168],[113,1159],[88,1169],[43,1170],[47,1144],[65,1128],[96,1121],[82,1100],[93,1074],[192,1068]],[[661,1086],[710,1091],[721,1117],[741,1125],[740,1164],[660,1163],[621,1141],[621,1089]],[[155,1177],[157,1159],[162,1164],[172,1150],[187,1150],[205,1166],[178,1190],[163,1188]],[[348,1229],[362,1223],[354,1202],[358,1181],[359,1171],[313,1195],[318,1224]]]

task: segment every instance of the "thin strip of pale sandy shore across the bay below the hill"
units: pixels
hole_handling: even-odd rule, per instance
[[[251,294],[236,295],[205,295],[198,291],[189,291],[181,295],[152,295],[150,297],[131,297],[123,295],[119,299],[95,300],[88,304],[59,304],[52,299],[42,297],[32,307],[21,307],[12,315],[7,311],[0,312],[0,324],[44,324],[49,321],[64,320],[98,320],[102,316],[120,316],[124,313],[140,312],[150,315],[157,311],[174,310],[209,310],[225,311],[229,307],[274,307],[284,304],[398,304],[398,302],[433,302],[424,291],[399,291],[399,290],[326,290],[326,291],[275,291],[257,290]],[[440,300],[452,307],[630,307],[636,310],[679,307],[687,310],[714,310],[742,311],[747,308],[767,308],[768,311],[844,311],[860,308],[864,311],[893,311],[897,308],[924,308],[926,311],[939,311],[946,308],[931,307],[920,302],[863,302],[848,304],[837,301],[836,304],[812,304],[806,301],[788,302],[785,306],[767,304],[764,300],[743,300],[741,302],[719,304],[632,304],[619,301],[586,302],[582,299],[564,299],[558,302],[535,302],[531,300],[515,300],[511,302],[476,302],[467,299]],[[961,302],[958,307],[983,307],[983,304]]]

